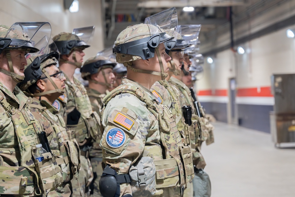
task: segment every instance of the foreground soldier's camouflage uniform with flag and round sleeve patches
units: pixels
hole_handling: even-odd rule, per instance
[[[118,117],[125,117],[128,125]],[[120,184],[120,196],[181,196],[181,185],[194,174],[191,148],[181,143],[172,113],[150,90],[122,78],[121,86],[104,97],[101,122],[104,166],[119,175],[129,172],[131,178],[130,184]],[[113,130],[124,135],[118,148],[110,144]],[[145,176],[141,181],[140,168]]]

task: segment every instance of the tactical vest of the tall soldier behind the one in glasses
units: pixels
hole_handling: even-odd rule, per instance
[[[78,79],[74,78],[76,84],[80,84]],[[85,139],[96,139],[99,127],[99,115],[92,111],[89,97],[84,86],[77,85],[74,89],[71,84],[68,84],[70,91],[73,93],[77,110],[81,113],[79,123],[77,125],[67,125],[72,131],[72,136],[77,139],[79,143]],[[85,127],[87,129],[85,129]]]

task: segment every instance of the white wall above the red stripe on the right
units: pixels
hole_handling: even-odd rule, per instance
[[[228,49],[217,53],[213,64],[205,61],[198,90],[228,89],[231,77],[236,77],[237,88],[271,86],[272,74],[295,73],[295,39],[286,37],[287,29],[244,43],[243,55]]]

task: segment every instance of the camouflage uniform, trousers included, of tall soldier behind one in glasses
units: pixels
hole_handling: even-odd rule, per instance
[[[73,196],[80,196],[81,193],[89,193],[88,186],[93,179],[93,172],[89,160],[89,150],[92,147],[93,139],[96,138],[98,131],[98,114],[92,111],[89,97],[85,87],[74,77],[71,83],[66,77],[65,94],[60,96],[56,102],[59,103],[59,114],[67,122],[68,114],[75,108],[81,113],[77,125],[67,125],[72,138],[78,141],[81,152],[81,170],[78,181],[72,179]],[[89,195],[89,194],[87,194]]]

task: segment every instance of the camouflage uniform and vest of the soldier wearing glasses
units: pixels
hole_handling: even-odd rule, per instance
[[[76,139],[71,139],[68,135],[63,118],[58,115],[55,109],[45,100],[37,100],[35,97],[29,98],[27,104],[32,109],[36,117],[46,132],[51,152],[60,156],[56,159],[60,171],[63,175],[63,185],[55,191],[51,191],[47,196],[71,196],[72,185],[70,180],[78,178],[80,168],[79,146]]]

